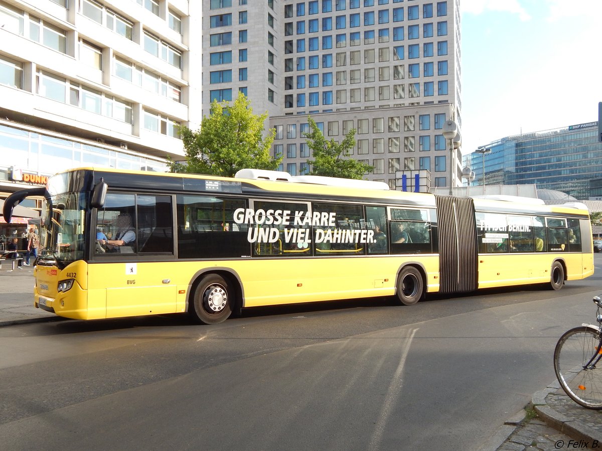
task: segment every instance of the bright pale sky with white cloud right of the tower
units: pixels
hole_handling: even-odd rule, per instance
[[[460,0],[462,154],[598,120],[602,0]]]

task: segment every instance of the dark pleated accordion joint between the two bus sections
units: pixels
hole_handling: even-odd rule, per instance
[[[470,197],[435,195],[439,238],[439,293],[477,289],[478,255]]]

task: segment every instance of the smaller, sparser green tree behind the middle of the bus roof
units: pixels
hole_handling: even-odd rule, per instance
[[[314,157],[313,160],[308,160],[312,167],[310,173],[312,176],[361,180],[365,173],[374,170],[372,166],[350,158],[350,151],[355,145],[355,129],[350,130],[341,143],[337,143],[334,139],[327,141],[324,133],[311,117],[308,117],[307,121],[309,124],[309,133],[306,135],[307,145]]]

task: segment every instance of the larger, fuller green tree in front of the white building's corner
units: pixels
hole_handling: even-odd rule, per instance
[[[213,100],[211,114],[203,117],[199,130],[180,128],[187,161],[171,162],[170,171],[232,177],[243,168],[278,168],[282,156],[270,156],[276,130],[270,129],[264,137],[267,111],[255,115],[249,105],[240,92],[231,106]]]

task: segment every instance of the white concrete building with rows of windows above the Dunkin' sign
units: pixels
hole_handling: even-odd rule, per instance
[[[22,174],[182,159],[175,125],[202,119],[201,14],[187,0],[0,0],[0,194],[35,183]]]

